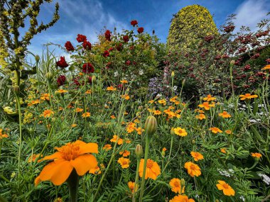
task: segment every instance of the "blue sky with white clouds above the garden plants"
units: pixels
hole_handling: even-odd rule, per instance
[[[236,13],[237,28],[245,25],[252,30],[270,11],[270,0],[53,0],[55,2],[60,4],[60,20],[53,28],[33,38],[29,50],[36,54],[42,52],[45,43],[63,45],[67,40],[75,43],[77,33],[87,35],[94,43],[104,26],[110,30],[114,26],[119,31],[121,28],[130,29],[133,19],[148,33],[155,30],[158,38],[165,43],[173,14],[193,4],[205,6],[214,16],[217,26],[222,25],[227,16]],[[53,9],[54,4],[43,4],[40,19],[44,23],[50,21]]]

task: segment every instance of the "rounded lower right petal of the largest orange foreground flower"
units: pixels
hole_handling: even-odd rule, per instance
[[[93,155],[80,155],[76,159],[70,161],[72,167],[76,169],[78,175],[82,176],[90,169],[97,167],[97,159]]]

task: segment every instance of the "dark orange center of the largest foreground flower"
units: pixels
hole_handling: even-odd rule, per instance
[[[60,147],[59,152],[62,153],[63,159],[70,161],[79,156],[80,146],[77,143],[68,143],[67,145]]]

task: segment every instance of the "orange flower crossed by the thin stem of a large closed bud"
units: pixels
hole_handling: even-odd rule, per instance
[[[142,177],[144,172],[144,159],[141,159],[139,165],[139,176]],[[161,174],[161,168],[158,166],[157,162],[154,162],[152,159],[147,159],[146,163],[146,175],[145,179],[151,178],[156,180],[158,175]]]

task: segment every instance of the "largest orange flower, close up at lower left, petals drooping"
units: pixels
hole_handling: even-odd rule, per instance
[[[51,181],[55,185],[63,184],[73,169],[79,176],[97,167],[97,159],[92,153],[98,153],[96,143],[85,143],[81,140],[69,142],[62,147],[55,147],[58,152],[43,158],[50,160],[41,174],[35,179],[36,186],[41,181]]]

